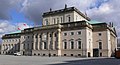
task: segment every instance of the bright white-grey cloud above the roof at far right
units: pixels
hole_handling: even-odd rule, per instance
[[[94,7],[87,10],[88,15],[92,20],[102,22],[113,22],[116,27],[117,34],[120,37],[120,2],[118,0],[109,0],[102,3],[99,7]]]

